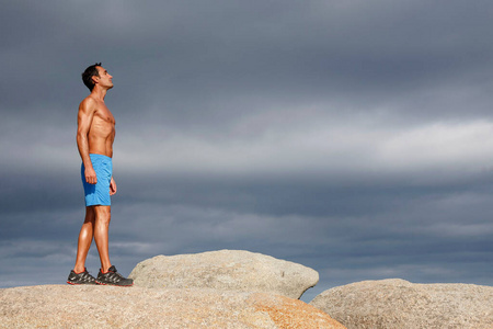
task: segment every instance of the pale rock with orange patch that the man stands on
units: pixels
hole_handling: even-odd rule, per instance
[[[41,285],[0,290],[1,328],[345,328],[301,300],[213,290]]]

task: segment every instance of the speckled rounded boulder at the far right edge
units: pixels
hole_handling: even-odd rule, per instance
[[[352,328],[493,328],[493,287],[364,281],[334,287],[310,305]]]

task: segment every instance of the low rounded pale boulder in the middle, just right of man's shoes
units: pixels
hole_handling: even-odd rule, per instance
[[[144,287],[265,292],[290,298],[319,282],[312,269],[241,250],[157,256],[138,263],[129,277]]]

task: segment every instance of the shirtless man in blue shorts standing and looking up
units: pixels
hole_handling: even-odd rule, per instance
[[[106,92],[113,88],[112,76],[101,63],[85,69],[82,81],[91,91],[79,105],[77,146],[82,158],[82,184],[85,194],[85,220],[79,234],[76,266],[70,272],[69,284],[111,284],[129,286],[131,279],[125,279],[110,262],[108,226],[111,220],[111,197],[116,193],[112,175],[113,140],[115,118],[104,104]],[[85,258],[94,238],[101,259],[98,279],[85,269]]]

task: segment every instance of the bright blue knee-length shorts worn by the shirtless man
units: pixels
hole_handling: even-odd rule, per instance
[[[112,205],[110,197],[110,182],[113,174],[112,158],[103,155],[89,155],[92,168],[96,173],[98,183],[85,182],[84,163],[81,167],[82,184],[84,186],[85,206]]]

